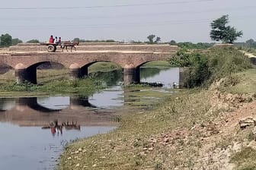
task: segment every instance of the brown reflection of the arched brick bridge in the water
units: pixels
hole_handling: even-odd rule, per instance
[[[50,96],[0,99],[0,122],[19,126],[50,127],[54,121],[66,130],[80,126],[116,125],[113,110],[91,104],[88,97]],[[77,128],[78,129],[78,128]]]

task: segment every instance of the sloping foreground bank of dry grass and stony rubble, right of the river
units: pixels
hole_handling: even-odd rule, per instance
[[[237,52],[227,53],[244,58]],[[232,65],[237,65],[235,61]],[[214,64],[221,69],[230,65]],[[256,112],[256,70],[239,67],[227,74],[211,72],[210,76],[219,77],[209,77],[212,83],[206,89],[181,90],[151,111],[123,115],[120,127],[109,134],[69,143],[59,169],[256,168],[254,162],[242,163],[252,160],[256,151],[246,149],[254,141],[251,129],[238,125]]]

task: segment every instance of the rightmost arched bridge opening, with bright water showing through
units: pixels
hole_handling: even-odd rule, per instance
[[[168,61],[149,61],[139,68],[141,83],[157,83],[169,88],[179,83],[179,68],[171,68]]]

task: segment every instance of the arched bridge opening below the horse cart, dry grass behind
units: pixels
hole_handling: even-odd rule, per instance
[[[31,83],[48,83],[69,77],[69,69],[53,61],[43,61],[27,68]]]

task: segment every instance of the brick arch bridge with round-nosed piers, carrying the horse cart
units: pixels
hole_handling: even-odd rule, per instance
[[[58,48],[58,47],[57,47]],[[0,65],[14,68],[18,83],[37,83],[37,67],[56,62],[69,68],[73,78],[88,75],[88,67],[98,61],[113,62],[123,68],[124,84],[139,83],[139,67],[149,61],[166,61],[177,46],[128,43],[81,43],[74,52],[46,52],[46,46],[21,43],[0,51]]]

